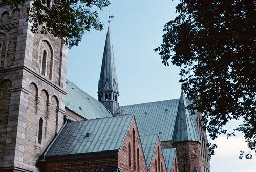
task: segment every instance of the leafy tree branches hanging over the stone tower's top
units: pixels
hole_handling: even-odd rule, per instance
[[[11,0],[12,8],[23,6],[27,0]],[[91,28],[102,30],[97,10],[110,4],[109,0],[34,0],[28,7],[28,21],[31,31],[50,33],[71,48],[77,46],[82,36]]]

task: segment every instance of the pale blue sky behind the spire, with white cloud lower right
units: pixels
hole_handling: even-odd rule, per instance
[[[180,97],[179,67],[162,64],[154,48],[162,41],[163,27],[175,18],[178,1],[111,1],[99,11],[103,31],[86,33],[79,46],[69,50],[67,78],[97,99],[98,81],[104,50],[108,11],[114,18],[110,28],[119,82],[119,103],[129,105]],[[230,123],[233,127],[237,122]],[[256,171],[256,160],[239,160],[246,148],[241,135],[214,141],[219,146],[211,158],[211,171]],[[255,156],[254,156],[255,157]]]

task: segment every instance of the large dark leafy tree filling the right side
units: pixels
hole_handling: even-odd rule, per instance
[[[163,43],[155,49],[164,65],[181,67],[182,87],[202,113],[211,139],[242,132],[252,158],[256,152],[256,1],[180,0],[177,17],[165,24]],[[231,131],[230,120],[243,119]],[[216,144],[208,144],[210,155]]]

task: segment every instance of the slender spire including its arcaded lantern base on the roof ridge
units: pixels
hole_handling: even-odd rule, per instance
[[[118,81],[114,60],[113,44],[110,34],[110,25],[106,33],[106,41],[102,59],[102,66],[98,86],[98,100],[114,114],[119,107]]]

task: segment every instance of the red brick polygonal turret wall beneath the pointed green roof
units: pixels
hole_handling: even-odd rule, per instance
[[[178,156],[180,172],[191,172],[194,167],[201,172],[201,145],[198,142],[178,142],[173,144]]]

